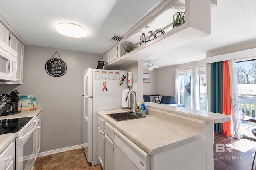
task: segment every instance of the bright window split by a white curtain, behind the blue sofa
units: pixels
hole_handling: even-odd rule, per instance
[[[180,80],[180,104],[184,104],[186,108],[191,108],[193,99],[191,96],[191,69],[179,70]],[[198,67],[199,84],[197,85],[200,110],[207,111],[207,83],[206,83],[206,66]]]

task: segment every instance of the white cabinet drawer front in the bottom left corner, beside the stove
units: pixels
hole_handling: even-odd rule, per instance
[[[13,161],[13,157],[14,157],[14,143],[12,142],[0,154],[0,170],[6,169],[6,167]]]

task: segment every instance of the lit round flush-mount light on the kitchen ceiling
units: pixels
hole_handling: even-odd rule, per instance
[[[73,23],[60,23],[56,30],[67,37],[82,38],[87,35],[87,31],[79,25]]]

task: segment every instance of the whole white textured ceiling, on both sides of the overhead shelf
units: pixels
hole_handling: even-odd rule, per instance
[[[28,45],[102,54],[164,0],[0,0],[0,15]],[[88,36],[74,39],[55,31],[58,23],[81,25]],[[206,52],[256,41],[256,0],[218,0],[211,8],[212,33],[150,56],[163,66],[198,61]]]

